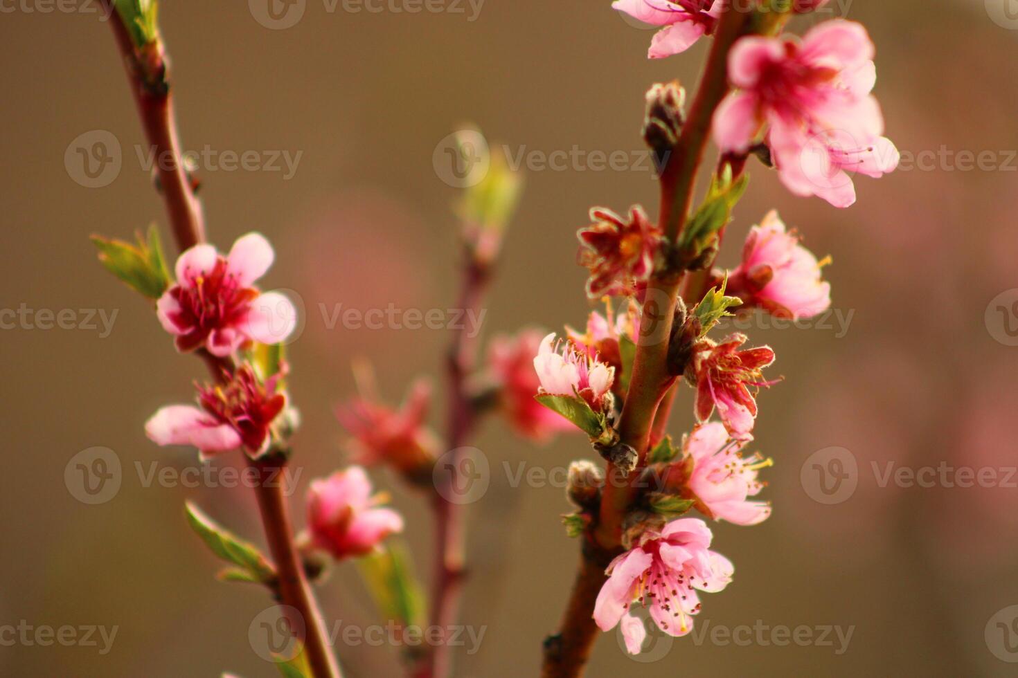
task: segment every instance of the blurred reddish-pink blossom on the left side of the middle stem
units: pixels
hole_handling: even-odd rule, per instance
[[[415,475],[427,470],[439,441],[428,427],[432,389],[417,380],[398,410],[374,397],[357,397],[336,409],[336,418],[352,436],[348,442],[358,464],[390,464],[402,473]]]

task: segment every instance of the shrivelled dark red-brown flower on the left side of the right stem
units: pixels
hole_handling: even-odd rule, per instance
[[[591,299],[604,295],[631,294],[634,284],[654,272],[654,254],[661,245],[661,229],[641,207],[633,206],[629,220],[611,209],[590,210],[593,226],[580,229],[579,264],[590,271],[586,294]]]

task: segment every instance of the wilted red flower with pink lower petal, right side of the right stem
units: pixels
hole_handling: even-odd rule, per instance
[[[750,387],[769,386],[760,370],[774,362],[774,351],[759,347],[739,351],[745,334],[732,334],[721,344],[703,340],[695,347],[696,419],[705,422],[714,409],[728,433],[748,440],[756,419],[756,399]]]

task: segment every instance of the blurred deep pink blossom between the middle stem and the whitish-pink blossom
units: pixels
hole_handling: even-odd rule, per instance
[[[559,431],[575,431],[569,420],[544,407],[533,394],[541,381],[533,359],[543,332],[524,329],[515,336],[496,336],[488,351],[488,370],[499,392],[499,406],[520,435],[545,441]]]

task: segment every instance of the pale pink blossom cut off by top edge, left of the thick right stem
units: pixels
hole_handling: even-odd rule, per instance
[[[647,57],[663,59],[685,52],[714,33],[723,0],[615,0],[612,8],[638,21],[664,26],[651,40]]]

